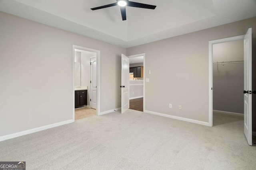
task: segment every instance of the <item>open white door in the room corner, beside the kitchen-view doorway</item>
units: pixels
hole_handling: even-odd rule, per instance
[[[122,54],[122,75],[121,75],[121,113],[129,108],[129,58]]]

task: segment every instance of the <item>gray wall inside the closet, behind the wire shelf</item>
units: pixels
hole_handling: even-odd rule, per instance
[[[213,45],[213,62],[244,60],[244,40]],[[213,65],[213,109],[244,113],[244,63]]]

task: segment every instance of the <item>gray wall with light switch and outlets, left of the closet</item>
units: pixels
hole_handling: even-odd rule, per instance
[[[208,43],[250,27],[255,39],[256,18],[250,18],[126,49],[126,55],[146,53],[145,109],[208,122]]]

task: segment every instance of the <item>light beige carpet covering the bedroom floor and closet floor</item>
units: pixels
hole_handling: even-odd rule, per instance
[[[256,147],[241,117],[214,114],[206,127],[129,109],[2,141],[0,161],[26,161],[27,170],[248,170]]]

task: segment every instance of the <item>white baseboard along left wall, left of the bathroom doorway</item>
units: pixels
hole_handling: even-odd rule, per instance
[[[34,129],[29,129],[29,130],[26,130],[26,131],[21,131],[21,132],[18,132],[18,133],[12,133],[10,135],[1,136],[0,137],[0,141],[4,141],[4,140],[7,140],[7,139],[12,139],[12,138],[15,138],[15,137],[20,137],[20,136],[23,136],[23,135],[28,135],[30,133],[34,133],[34,132],[38,132],[38,131],[43,131],[43,130],[46,130],[46,129],[50,129],[52,127],[57,127],[57,126],[65,125],[65,124],[72,123],[72,122],[74,122],[73,119],[67,120],[67,121],[58,122],[58,123],[54,123],[54,124],[51,124],[51,125],[42,126],[42,127],[36,127]]]

